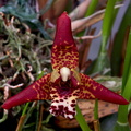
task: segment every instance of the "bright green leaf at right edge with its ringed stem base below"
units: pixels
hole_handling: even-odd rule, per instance
[[[130,100],[131,98],[131,29],[129,33],[129,39],[127,45],[126,60],[124,60],[124,71],[122,79],[122,96]],[[118,123],[115,126],[115,131],[130,131],[128,126],[128,105],[120,105],[118,110]]]

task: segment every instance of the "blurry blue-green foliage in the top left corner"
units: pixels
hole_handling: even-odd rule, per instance
[[[49,5],[52,0],[49,1]],[[51,39],[50,35],[44,29],[43,24],[38,20],[39,14],[45,13],[49,5],[46,5],[45,10],[36,13],[34,9],[28,4],[27,0],[11,0],[4,7],[0,8],[0,12],[5,14],[11,14],[17,17],[22,23],[27,24],[32,29],[38,29],[45,39]]]

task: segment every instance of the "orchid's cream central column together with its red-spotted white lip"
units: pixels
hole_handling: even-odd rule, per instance
[[[50,88],[52,103],[49,111],[52,115],[61,115],[70,119],[76,115],[75,105],[80,92],[78,83],[69,68],[63,67],[60,69],[60,76],[52,82]]]

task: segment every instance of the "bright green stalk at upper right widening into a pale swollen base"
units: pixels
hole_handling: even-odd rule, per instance
[[[115,3],[116,0],[108,0],[103,27],[102,27],[102,45],[98,53],[98,58],[92,69],[92,73],[102,72],[105,68],[109,68],[110,63],[107,56],[107,40],[111,32],[112,22],[115,17]]]

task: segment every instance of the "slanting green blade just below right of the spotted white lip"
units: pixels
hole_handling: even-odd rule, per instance
[[[84,117],[83,117],[83,115],[82,115],[82,112],[81,112],[81,110],[80,110],[78,105],[76,105],[75,108],[76,108],[75,119],[78,120],[80,127],[82,128],[82,131],[92,131],[90,129],[90,127],[87,126],[87,123],[86,123],[86,121],[85,121],[85,119],[84,119]]]

